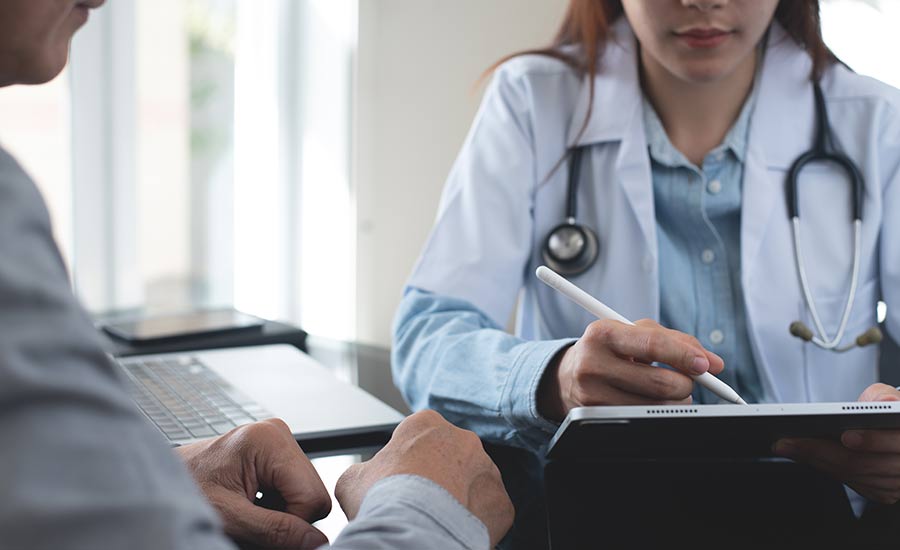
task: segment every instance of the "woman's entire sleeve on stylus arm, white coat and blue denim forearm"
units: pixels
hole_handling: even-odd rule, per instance
[[[450,173],[395,317],[392,364],[414,409],[537,450],[557,428],[537,410],[539,383],[571,340],[525,341],[503,327],[524,284],[534,195],[547,177],[535,156],[535,98],[562,94],[568,69],[535,72],[521,61],[499,69]]]

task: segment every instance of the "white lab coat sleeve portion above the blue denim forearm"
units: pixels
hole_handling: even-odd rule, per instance
[[[474,304],[505,326],[531,254],[536,186],[527,79],[491,82],[408,286]]]

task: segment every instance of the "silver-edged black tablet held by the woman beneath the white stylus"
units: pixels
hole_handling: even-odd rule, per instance
[[[579,407],[547,458],[769,458],[781,438],[900,429],[900,402]]]

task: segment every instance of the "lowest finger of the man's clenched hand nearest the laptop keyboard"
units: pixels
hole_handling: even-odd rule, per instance
[[[222,514],[229,536],[265,548],[319,548],[328,544],[321,531],[287,514],[268,510],[240,498],[234,493],[223,496],[216,508]]]

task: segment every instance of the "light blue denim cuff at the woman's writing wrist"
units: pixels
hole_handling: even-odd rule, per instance
[[[566,338],[526,342],[521,345],[521,352],[510,368],[500,396],[500,412],[535,448],[546,444],[547,435],[552,436],[559,427],[557,422],[547,420],[538,412],[538,386],[550,361],[575,341],[574,338]]]

